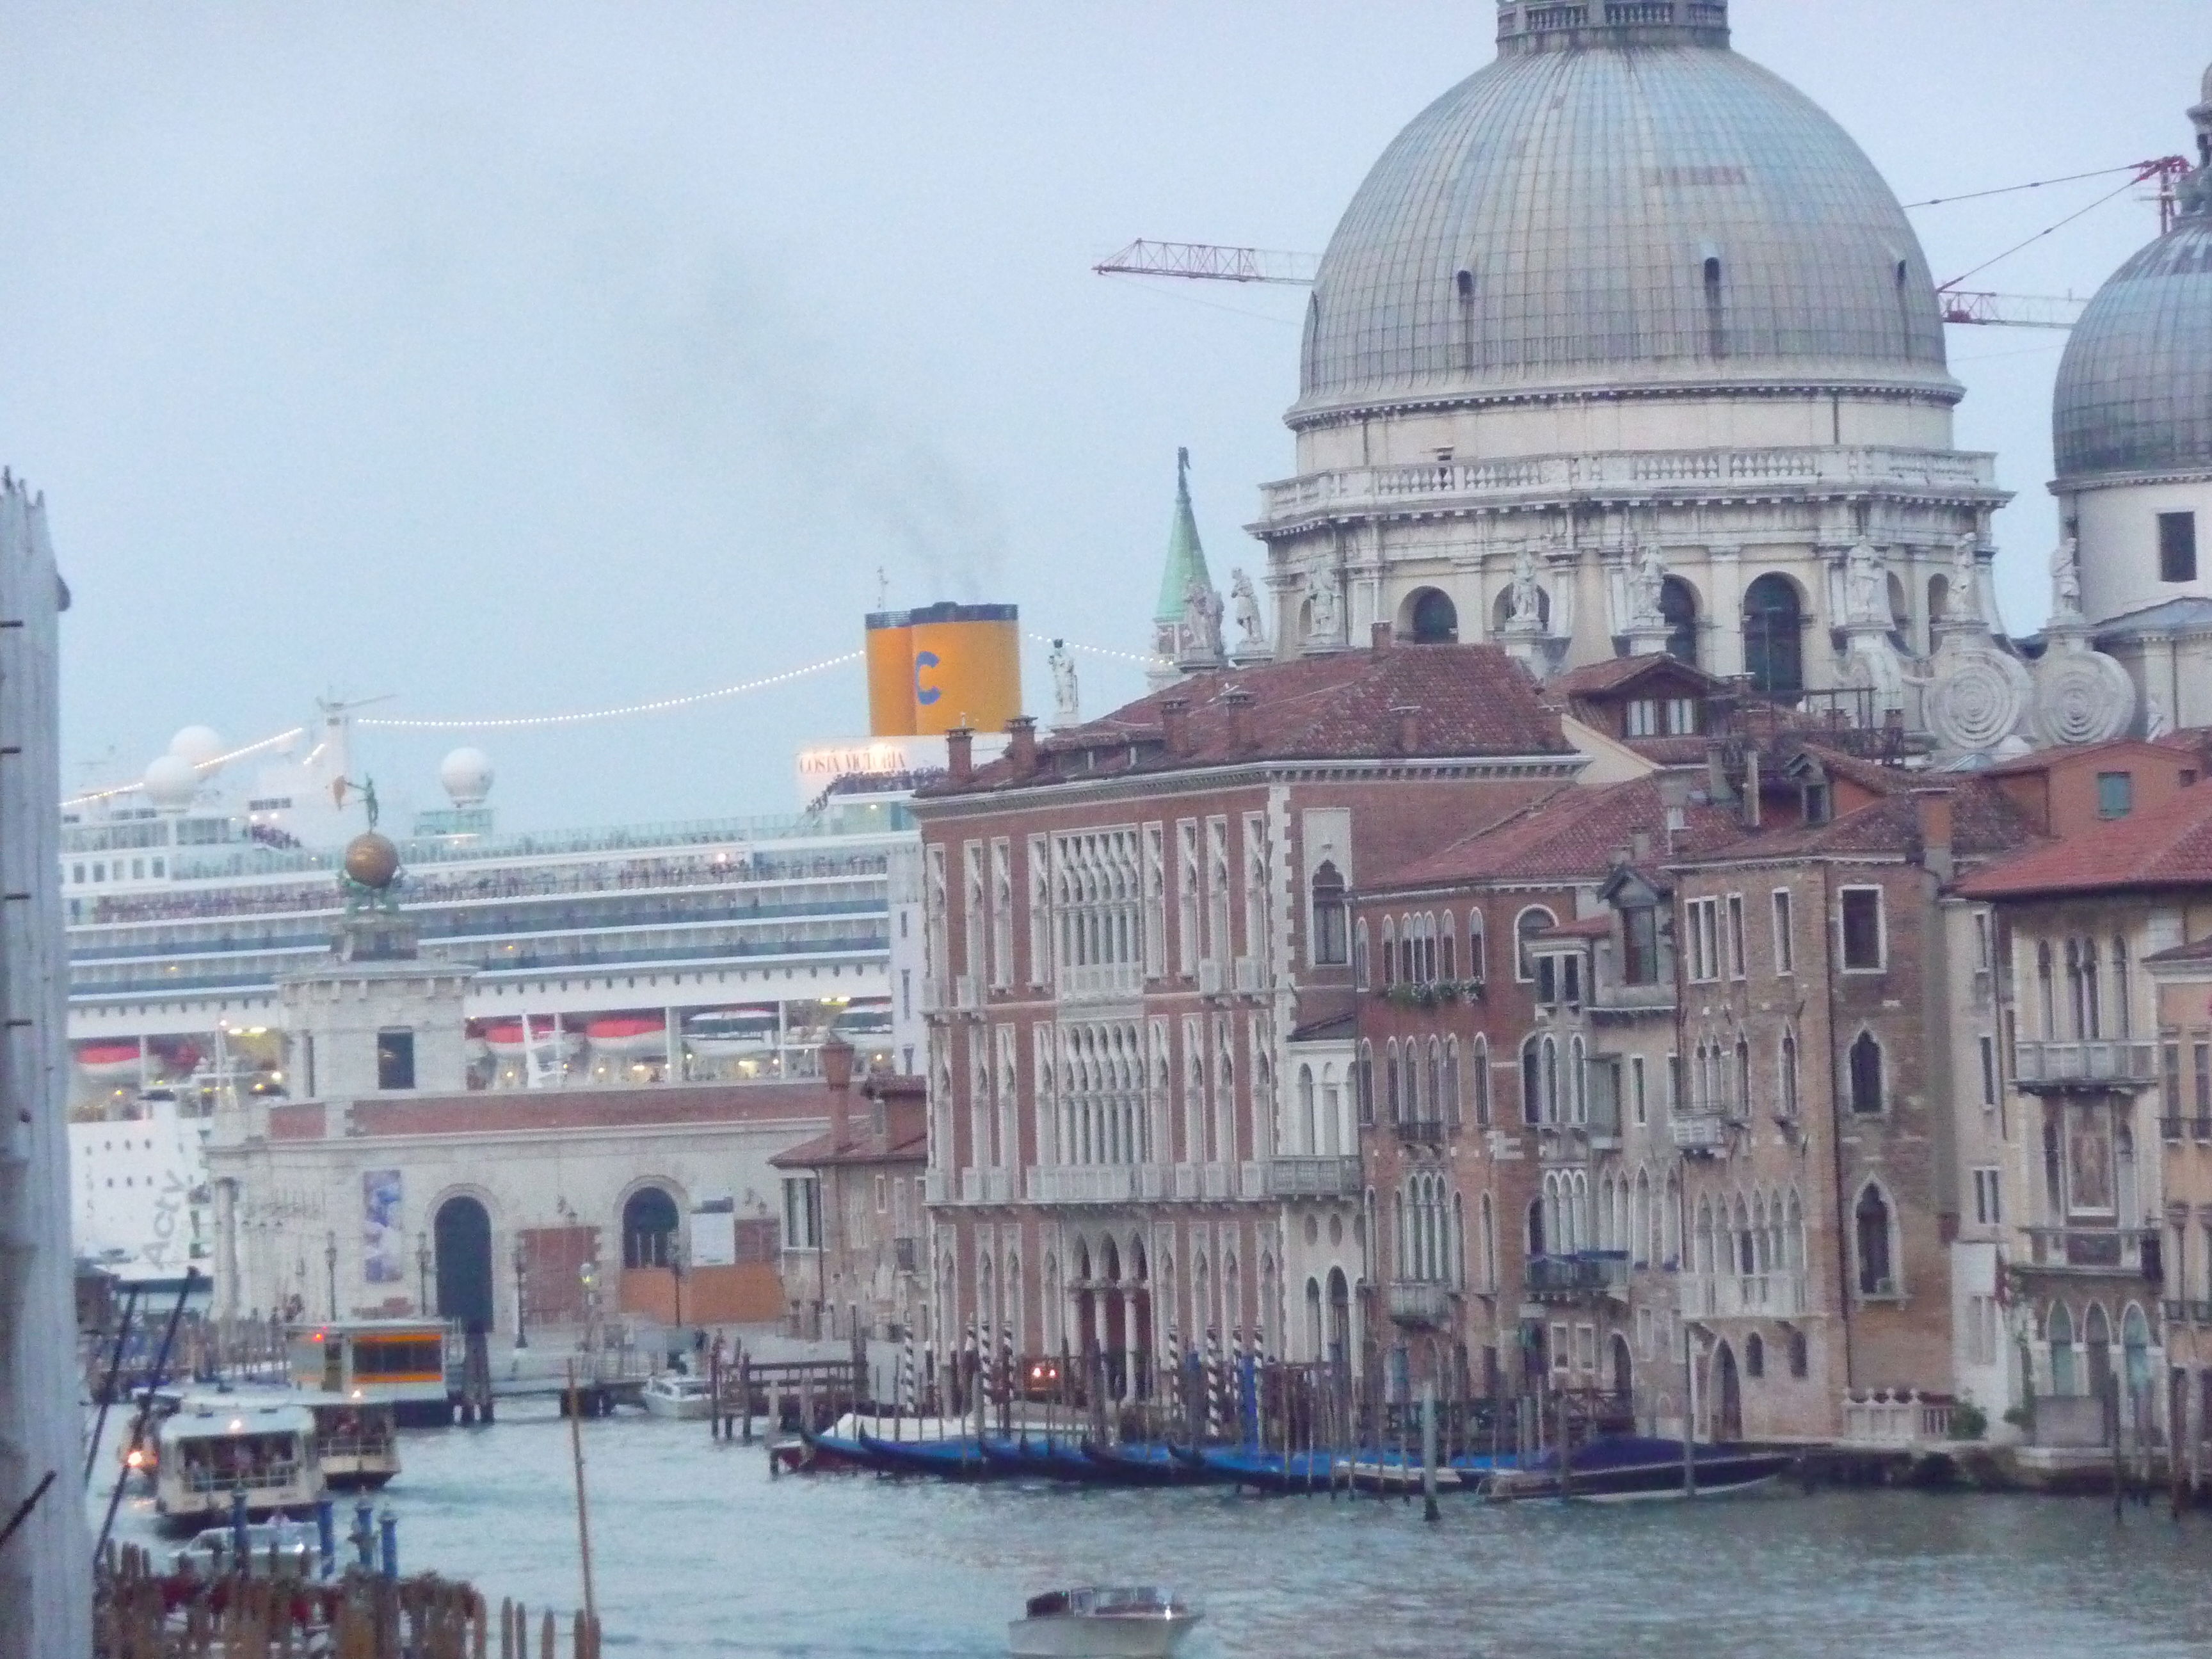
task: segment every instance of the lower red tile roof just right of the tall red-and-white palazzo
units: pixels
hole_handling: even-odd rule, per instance
[[[1690,785],[1686,774],[1677,783]],[[1444,887],[1478,880],[1595,880],[1613,860],[1648,834],[1666,856],[1666,805],[1659,776],[1630,779],[1601,790],[1568,785],[1524,807],[1502,823],[1478,830],[1442,852],[1416,858],[1367,891]],[[1719,845],[1741,834],[1725,807],[1690,803],[1688,823],[1674,834],[1674,849]]]

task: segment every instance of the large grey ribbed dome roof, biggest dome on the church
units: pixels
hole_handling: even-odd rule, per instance
[[[1955,400],[1889,186],[1721,42],[1588,29],[1509,49],[1422,111],[1323,254],[1292,418],[1573,385]]]

